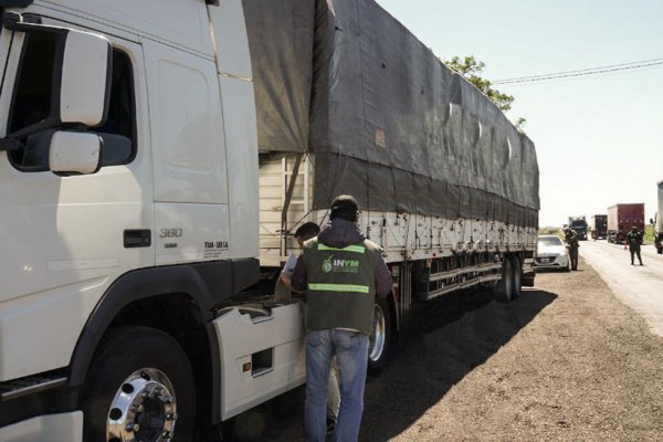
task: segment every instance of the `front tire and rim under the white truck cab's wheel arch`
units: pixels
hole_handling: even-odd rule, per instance
[[[117,328],[95,357],[82,409],[85,441],[192,440],[196,380],[187,354],[161,330]]]

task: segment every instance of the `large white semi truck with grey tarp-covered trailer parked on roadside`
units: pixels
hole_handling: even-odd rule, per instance
[[[533,282],[532,141],[372,1],[278,3],[0,1],[0,441],[202,441],[304,383],[301,306],[256,287],[335,193],[394,277],[373,366],[414,304]]]

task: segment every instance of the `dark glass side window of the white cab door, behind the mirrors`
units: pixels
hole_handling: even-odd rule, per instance
[[[51,115],[55,36],[49,33],[27,35],[17,78],[8,134],[40,123]],[[113,50],[113,78],[108,117],[97,127],[76,127],[98,134],[104,139],[102,166],[130,162],[135,157],[134,84],[129,56]],[[53,129],[41,130],[21,139],[23,147],[9,154],[11,162],[22,171],[49,170],[49,140]]]

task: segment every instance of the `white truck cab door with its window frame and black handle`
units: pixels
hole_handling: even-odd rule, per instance
[[[74,22],[75,20],[71,20]],[[69,23],[44,18],[44,24]],[[120,274],[154,265],[145,85],[136,42],[107,35],[113,84],[98,127],[50,127],[0,151],[0,380],[69,364],[91,312]],[[55,105],[53,34],[2,30],[0,135],[42,122]],[[75,92],[73,92],[75,93]],[[53,130],[98,134],[102,167],[90,175],[49,170]],[[136,243],[136,235],[146,238]],[[25,324],[30,324],[27,327]],[[52,337],[56,334],[56,338]]]

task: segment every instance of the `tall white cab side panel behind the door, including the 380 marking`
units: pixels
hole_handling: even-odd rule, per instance
[[[214,61],[144,41],[157,264],[230,255],[223,115]]]

